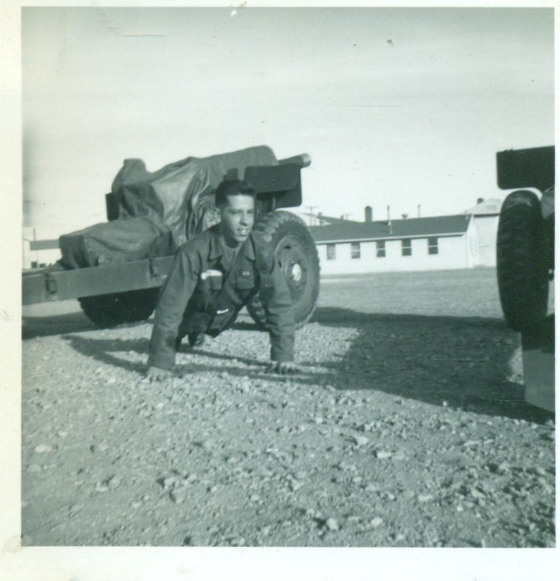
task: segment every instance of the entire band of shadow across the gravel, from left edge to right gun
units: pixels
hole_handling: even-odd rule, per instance
[[[178,374],[220,371],[279,383],[331,385],[339,391],[378,390],[432,405],[528,421],[542,422],[552,417],[528,405],[523,385],[511,381],[515,371],[511,369],[511,358],[520,338],[500,319],[375,314],[322,307],[312,321],[334,328],[354,327],[359,333],[349,346],[345,343],[340,357],[333,361],[320,364],[298,361],[301,373],[297,376],[265,375],[262,361],[243,354],[241,357],[217,354],[212,352],[211,345],[193,349],[193,354],[210,359],[208,364],[178,365]],[[85,356],[133,373],[145,373],[145,363],[126,361],[119,352],[135,352],[145,357],[147,338],[98,340],[74,335],[95,328],[81,313],[40,318],[39,323],[28,321],[27,336],[54,334],[48,333],[49,324],[56,325],[58,333],[68,330],[63,338]],[[233,329],[254,331],[256,327],[241,320]],[[188,347],[181,347],[181,351],[188,352]],[[228,364],[233,360],[237,365]]]

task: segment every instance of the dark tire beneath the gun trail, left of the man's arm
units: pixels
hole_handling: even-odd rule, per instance
[[[154,312],[159,288],[140,289],[95,297],[80,297],[80,306],[87,317],[101,328],[122,323],[145,321]]]

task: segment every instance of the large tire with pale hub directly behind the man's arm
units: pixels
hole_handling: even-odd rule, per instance
[[[255,231],[274,248],[292,295],[296,327],[300,328],[315,311],[319,294],[319,256],[315,241],[300,217],[282,210],[265,214],[255,225]],[[258,294],[247,310],[257,326],[267,330]]]

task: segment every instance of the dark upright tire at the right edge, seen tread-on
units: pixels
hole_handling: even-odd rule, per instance
[[[540,200],[532,191],[510,193],[501,207],[497,236],[501,309],[514,331],[547,315],[548,268]]]

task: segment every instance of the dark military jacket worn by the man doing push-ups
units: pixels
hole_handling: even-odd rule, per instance
[[[293,361],[291,294],[272,248],[251,232],[233,264],[224,265],[224,244],[214,226],[178,249],[159,296],[149,366],[173,368],[179,325],[183,336],[193,330],[216,336],[257,292],[267,316],[270,358]]]

